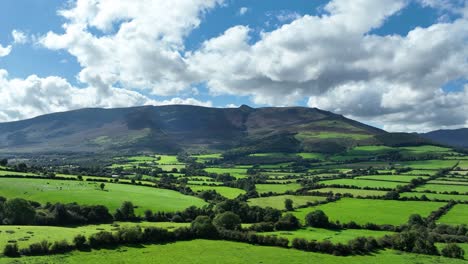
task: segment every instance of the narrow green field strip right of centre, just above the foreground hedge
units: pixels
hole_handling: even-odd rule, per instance
[[[332,243],[347,243],[349,240],[356,237],[374,237],[380,238],[385,235],[391,235],[393,232],[372,231],[365,229],[344,229],[344,230],[329,230],[323,228],[303,228],[295,231],[276,231],[261,233],[265,235],[276,235],[284,237],[291,242],[294,238],[304,238],[307,240],[329,240]]]

